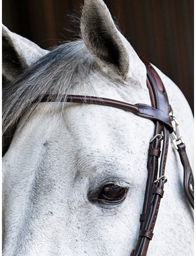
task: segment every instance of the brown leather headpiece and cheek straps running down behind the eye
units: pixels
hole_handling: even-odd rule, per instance
[[[150,63],[145,60],[143,57],[140,56],[142,61],[145,63],[147,68],[147,87],[150,94],[150,99],[152,105],[155,104],[155,107],[159,110],[162,110],[167,116],[170,113],[170,104],[168,101],[167,93],[164,88],[164,85],[150,65]],[[150,88],[151,86],[151,88]],[[153,95],[152,95],[153,91]],[[137,104],[136,104],[137,105]],[[165,173],[165,163],[167,158],[168,152],[168,144],[169,144],[169,129],[166,128],[163,123],[157,121],[155,127],[155,135],[160,134],[161,131],[163,132],[164,140],[163,140],[163,147],[162,147],[162,154],[161,154],[161,161],[159,167],[159,177],[163,176]],[[143,211],[141,215],[141,231],[139,235],[139,240],[133,253],[134,256],[146,256],[147,249],[149,245],[149,241],[152,239],[152,236],[149,236],[148,232],[151,232],[154,229],[154,225],[157,219],[158,209],[160,205],[160,200],[163,197],[163,187],[164,183],[163,180],[159,180],[154,184],[154,180],[157,179],[158,175],[158,158],[160,156],[160,148],[161,143],[157,139],[155,139],[149,145],[149,153],[148,153],[148,162],[147,162],[147,169],[148,169],[148,177],[147,177],[147,186],[145,192],[145,200],[143,205]],[[145,234],[145,235],[141,235]]]

